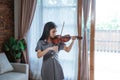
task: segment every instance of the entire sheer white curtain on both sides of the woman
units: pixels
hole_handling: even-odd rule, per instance
[[[43,26],[48,21],[53,21],[58,26],[57,34],[60,34],[62,24],[65,22],[62,35],[77,35],[77,0],[38,0],[34,20],[27,35],[30,70],[34,80],[40,80],[42,65],[42,58],[37,58],[35,47],[42,34]],[[67,42],[66,45],[69,45],[70,42]],[[58,54],[65,80],[77,80],[77,40],[69,53],[60,51]]]

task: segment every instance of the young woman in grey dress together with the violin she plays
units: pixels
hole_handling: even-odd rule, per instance
[[[69,46],[65,42],[72,39]],[[58,62],[58,52],[65,50],[69,52],[72,48],[76,36],[56,36],[56,25],[48,22],[44,26],[43,34],[39,39],[36,51],[38,58],[43,56],[43,64],[41,69],[42,80],[64,80],[64,74],[60,63]]]

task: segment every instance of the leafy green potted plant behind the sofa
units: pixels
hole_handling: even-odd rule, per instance
[[[12,62],[20,62],[22,52],[25,50],[25,48],[26,45],[23,39],[16,40],[14,37],[11,37],[4,43],[4,50]]]

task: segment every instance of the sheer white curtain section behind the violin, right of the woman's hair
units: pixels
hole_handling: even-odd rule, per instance
[[[77,35],[77,0],[44,0],[43,23],[53,21],[57,24],[57,33],[60,34],[63,21],[65,22],[63,33]],[[70,41],[66,43],[69,45]],[[63,67],[65,80],[77,80],[77,41],[71,52],[59,52],[59,60]]]

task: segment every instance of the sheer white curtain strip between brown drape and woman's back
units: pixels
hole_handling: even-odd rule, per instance
[[[41,66],[42,58],[37,58],[37,53],[35,52],[35,47],[37,41],[39,40],[43,25],[42,25],[42,5],[37,1],[36,11],[31,24],[30,30],[28,31],[26,40],[29,54],[29,63],[30,63],[30,78],[31,80],[41,80]]]

